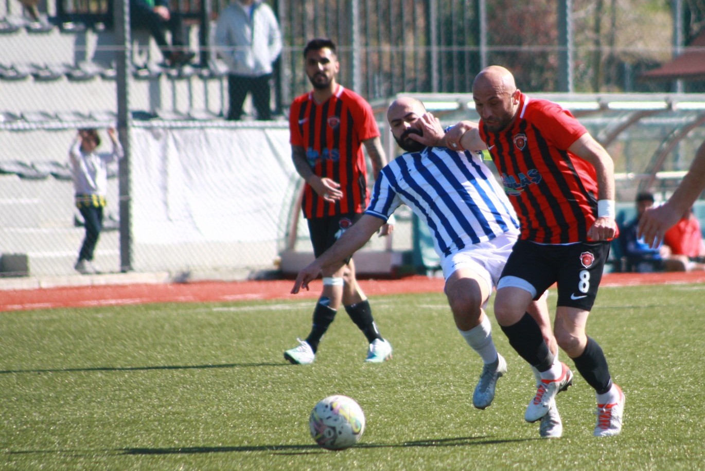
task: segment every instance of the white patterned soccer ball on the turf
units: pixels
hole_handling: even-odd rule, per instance
[[[348,396],[321,399],[309,417],[311,437],[328,450],[344,450],[360,440],[364,432],[364,413]]]

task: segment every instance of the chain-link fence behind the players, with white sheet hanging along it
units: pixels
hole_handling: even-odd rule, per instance
[[[648,81],[640,75],[671,57],[668,9],[652,12],[646,21],[635,16],[639,2],[606,12],[596,11],[594,2],[566,2],[572,4],[573,39],[563,44],[560,12],[549,1],[521,7],[480,0],[268,4],[283,48],[269,80],[274,120],[266,123],[255,120],[251,94],[243,119],[226,120],[228,70],[217,56],[223,49],[214,46],[225,1],[172,3],[183,17],[185,49],[195,53],[188,63],[164,63],[154,37],[140,27],[132,30],[130,68],[122,77],[130,84],[123,97],[131,118],[130,165],[121,171],[109,167],[104,231],[95,255],[102,270],[243,277],[277,270],[283,251],[309,250],[305,224],[296,217],[300,180],[290,163],[286,115],[293,97],[309,89],[301,52],[314,36],[338,43],[339,81],[373,103],[390,153],[396,149],[385,131],[384,111],[391,97],[433,94],[424,100],[447,123],[472,117],[467,94],[474,74],[489,63],[514,70],[527,92],[554,92],[568,82],[578,92],[696,92],[630,98],[656,103],[646,110],[609,108],[606,103],[617,99],[608,96],[578,105],[572,99],[571,109],[582,114],[591,132],[610,142],[625,175],[626,200],[650,173],[687,168],[695,144],[705,138],[704,82]],[[42,0],[37,9],[38,22],[19,1],[0,2],[0,272],[22,272],[26,256],[32,275],[68,275],[85,224],[73,204],[68,149],[79,129],[96,127],[102,133],[99,151],[110,150],[104,130],[116,125],[121,78],[116,56],[123,45],[117,44],[111,1]],[[624,25],[632,28],[628,36],[617,33]],[[533,33],[522,37],[521,30]],[[603,34],[606,30],[614,34]],[[572,59],[561,65],[567,48]],[[566,66],[572,81],[563,80]],[[674,100],[694,105],[679,108]],[[121,220],[122,205],[131,208],[129,220]],[[393,244],[374,241],[371,249],[414,248],[410,215],[398,219]]]

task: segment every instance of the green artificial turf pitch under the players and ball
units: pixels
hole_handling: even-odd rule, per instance
[[[588,333],[627,397],[622,434],[603,439],[592,437],[594,391],[577,372],[558,396],[563,438],[539,439],[538,424],[523,419],[532,373],[494,319],[509,370],[494,403],[476,410],[482,365],[445,297],[371,301],[394,348],[383,365],[364,363],[367,342],[342,310],[314,364],[286,363],[313,306],[294,296],[0,313],[0,468],[705,467],[701,286],[600,290]],[[367,417],[354,448],[326,451],[309,435],[311,409],[331,394],[355,398]]]

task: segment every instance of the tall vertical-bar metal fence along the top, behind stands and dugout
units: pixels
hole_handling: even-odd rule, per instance
[[[44,1],[49,20],[60,27],[104,30],[112,25],[112,0],[62,0],[55,6]],[[338,43],[341,82],[372,100],[399,92],[469,92],[474,74],[491,63],[514,70],[520,87],[531,92],[705,92],[702,77],[686,82],[642,78],[674,54],[699,50],[688,46],[697,30],[684,31],[678,25],[685,20],[670,18],[681,11],[680,17],[701,24],[705,11],[694,2],[675,0],[660,12],[628,0],[612,2],[612,10],[604,12],[589,0],[266,3],[278,16],[284,39],[275,74],[277,109],[307,90],[300,54],[312,37]],[[214,58],[214,20],[228,1],[171,4],[195,31],[192,47],[206,67]],[[635,8],[639,5],[643,9]]]

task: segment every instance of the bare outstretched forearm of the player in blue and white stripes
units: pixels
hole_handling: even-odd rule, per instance
[[[341,238],[330,249],[322,253],[319,258],[309,263],[305,268],[302,268],[296,276],[291,294],[297,294],[301,288],[308,291],[309,282],[315,280],[321,270],[336,271],[345,265],[343,260],[353,256],[353,253],[369,241],[372,234],[377,232],[383,224],[384,220],[363,214],[350,229],[343,232]]]

